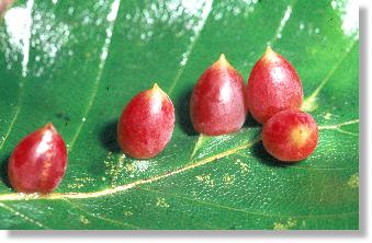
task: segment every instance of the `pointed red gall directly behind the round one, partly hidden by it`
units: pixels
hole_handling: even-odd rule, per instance
[[[263,124],[283,109],[300,109],[303,89],[293,66],[267,48],[250,72],[247,105],[253,118]]]

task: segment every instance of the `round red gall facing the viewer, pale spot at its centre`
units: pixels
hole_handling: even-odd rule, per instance
[[[262,128],[264,149],[283,162],[306,159],[318,141],[318,126],[307,113],[286,109],[272,116]]]

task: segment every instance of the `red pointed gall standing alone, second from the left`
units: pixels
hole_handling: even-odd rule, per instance
[[[153,158],[166,148],[173,128],[173,104],[155,84],[134,96],[124,108],[117,124],[119,144],[132,158]]]

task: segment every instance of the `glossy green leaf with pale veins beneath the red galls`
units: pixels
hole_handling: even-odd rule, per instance
[[[18,1],[0,22],[1,229],[359,229],[358,7],[335,1]],[[224,53],[245,80],[267,45],[303,81],[319,125],[312,157],[283,165],[251,118],[205,137],[193,84]],[[121,153],[125,104],[157,82],[177,109],[166,150]],[[19,195],[8,158],[53,121],[68,144],[55,193]]]

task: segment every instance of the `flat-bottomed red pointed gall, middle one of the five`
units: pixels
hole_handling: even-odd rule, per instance
[[[243,77],[221,55],[192,91],[190,116],[193,127],[208,136],[230,134],[241,128],[246,115]]]

